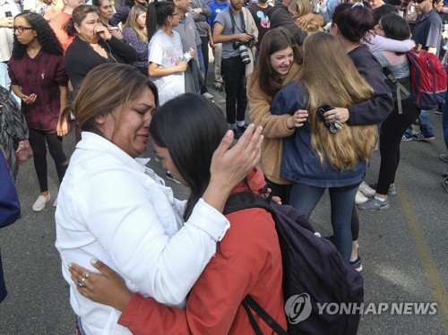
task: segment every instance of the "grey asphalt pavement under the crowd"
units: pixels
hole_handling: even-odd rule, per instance
[[[209,87],[215,96],[214,102],[224,111],[224,92],[213,90],[212,82]],[[361,318],[358,334],[448,334],[448,193],[442,186],[447,165],[438,159],[446,149],[442,116],[431,113],[430,117],[435,127],[435,141],[401,143],[397,195],[390,196],[391,207],[377,212],[359,211],[359,254],[369,310]],[[73,142],[71,133],[64,140],[68,155],[73,152]],[[153,158],[151,146],[143,156]],[[52,204],[57,195],[56,169],[49,155],[47,159],[51,202],[39,213],[31,210],[39,186],[32,160],[24,163],[16,184],[22,202],[22,219],[0,229],[9,291],[0,305],[0,334],[74,332],[68,285],[62,278],[54,246]],[[367,182],[376,182],[379,161],[379,152],[375,152]],[[163,176],[155,159],[151,159],[149,167]],[[171,181],[167,185],[173,187],[177,198],[188,197],[184,186]],[[311,219],[323,235],[331,234],[327,193]],[[416,314],[414,303],[436,303],[433,305],[436,313]]]

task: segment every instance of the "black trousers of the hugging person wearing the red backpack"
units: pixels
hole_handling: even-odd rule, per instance
[[[400,163],[401,135],[420,114],[420,110],[409,99],[401,100],[401,106],[403,113],[398,114],[398,105],[395,101],[392,113],[381,125],[381,165],[376,185],[376,192],[380,194],[387,194],[389,186],[395,181],[395,173]]]

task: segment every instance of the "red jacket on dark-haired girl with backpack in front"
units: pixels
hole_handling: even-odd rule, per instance
[[[247,180],[253,191],[265,184],[256,169]],[[246,190],[241,183],[233,193]],[[280,246],[271,214],[262,209],[240,210],[229,214],[228,220],[231,227],[194,284],[186,310],[136,294],[118,323],[134,334],[251,334],[254,331],[241,305],[250,294],[286,329]],[[254,316],[263,334],[273,333]]]

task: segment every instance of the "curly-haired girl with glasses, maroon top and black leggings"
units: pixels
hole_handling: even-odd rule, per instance
[[[68,126],[67,120],[60,118],[60,112],[67,103],[68,76],[63,48],[41,15],[18,14],[13,30],[13,56],[8,71],[13,91],[22,99],[22,112],[30,128],[29,141],[40,187],[32,210],[40,211],[50,200],[46,142],[55,160],[59,184],[67,168],[62,136],[67,133]]]

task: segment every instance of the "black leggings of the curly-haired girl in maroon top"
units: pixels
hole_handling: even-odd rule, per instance
[[[62,148],[62,137],[56,133],[44,133],[36,129],[30,128],[30,146],[34,156],[34,168],[38,175],[40,192],[48,191],[47,181],[47,145],[50,155],[55,160],[57,177],[59,185],[62,183],[65,171],[68,167],[67,158]]]

